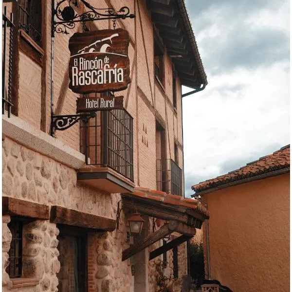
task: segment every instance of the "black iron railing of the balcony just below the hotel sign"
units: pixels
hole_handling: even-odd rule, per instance
[[[87,164],[110,167],[134,181],[133,118],[125,109],[97,111],[80,124],[80,152]]]

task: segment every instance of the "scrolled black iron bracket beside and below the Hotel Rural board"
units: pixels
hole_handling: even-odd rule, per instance
[[[80,120],[84,123],[87,123],[91,118],[94,118],[95,116],[96,112],[94,111],[90,113],[79,113],[72,115],[52,115],[51,136],[54,137],[54,129],[64,131],[75,125]]]

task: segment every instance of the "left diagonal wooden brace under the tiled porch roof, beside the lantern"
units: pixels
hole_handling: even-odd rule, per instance
[[[134,245],[128,247],[126,250],[122,253],[122,261],[125,259],[128,259],[131,256],[136,255],[137,253],[144,250],[149,245],[155,243],[156,241],[162,239],[163,237],[166,237],[168,234],[172,233],[172,230],[169,229],[169,225],[171,225],[171,228],[174,228],[171,223],[164,224],[160,229],[155,231],[154,233],[149,234],[145,238],[141,239]]]

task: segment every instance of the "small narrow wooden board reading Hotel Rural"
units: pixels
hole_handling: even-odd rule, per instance
[[[77,98],[76,112],[123,109],[124,96]]]

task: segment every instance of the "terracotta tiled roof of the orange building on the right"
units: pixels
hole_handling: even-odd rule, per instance
[[[263,156],[258,160],[247,163],[239,169],[229,171],[227,174],[195,184],[192,186],[192,189],[196,193],[200,193],[226,183],[241,181],[285,168],[290,169],[290,145],[282,147],[273,154]]]

